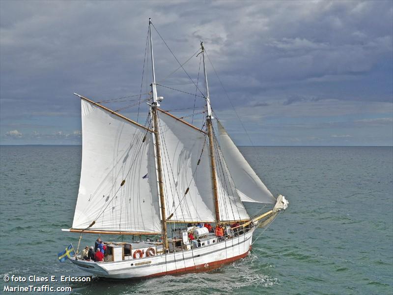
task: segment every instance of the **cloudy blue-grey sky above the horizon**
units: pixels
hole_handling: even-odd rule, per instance
[[[140,92],[145,99],[149,17],[180,62],[191,57],[184,67],[201,89],[195,56],[204,41],[215,69],[208,62],[212,105],[236,144],[250,145],[250,137],[263,146],[393,145],[390,0],[1,0],[0,11],[3,145],[81,144],[73,92],[94,101]],[[157,81],[195,94],[182,69],[172,73],[178,64],[156,31],[153,45]],[[203,106],[195,95],[158,91],[166,110]],[[139,116],[137,106],[121,113],[144,122],[146,105]]]

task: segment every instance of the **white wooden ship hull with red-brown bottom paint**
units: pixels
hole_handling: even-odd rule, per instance
[[[250,251],[254,229],[221,242],[164,255],[118,262],[95,263],[71,259],[80,269],[99,277],[130,279],[208,271],[244,258]]]

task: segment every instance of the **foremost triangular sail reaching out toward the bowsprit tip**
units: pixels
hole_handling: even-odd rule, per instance
[[[272,193],[253,171],[219,121],[218,129],[221,150],[242,201],[275,204]]]

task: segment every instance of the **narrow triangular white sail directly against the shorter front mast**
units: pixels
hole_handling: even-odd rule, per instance
[[[249,219],[250,216],[236,190],[231,172],[229,172],[226,165],[226,159],[224,159],[223,153],[219,147],[215,148],[215,155],[220,220],[232,221]]]

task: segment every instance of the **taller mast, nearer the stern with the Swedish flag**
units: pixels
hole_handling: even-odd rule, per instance
[[[157,178],[158,178],[158,189],[159,189],[159,198],[160,198],[160,206],[161,206],[161,218],[162,218],[162,231],[163,231],[163,242],[164,242],[164,252],[168,249],[168,235],[167,235],[167,217],[165,214],[165,200],[164,200],[164,182],[162,175],[162,162],[161,162],[161,149],[160,149],[160,134],[158,128],[158,115],[157,115],[157,107],[160,106],[157,100],[157,88],[156,88],[156,75],[154,71],[154,58],[153,58],[153,41],[151,38],[151,18],[149,18],[149,35],[150,35],[150,52],[151,52],[151,69],[153,72],[153,83],[151,86],[152,92],[152,102],[151,102],[151,116],[153,120],[153,129],[154,136],[153,141],[155,145],[155,154],[156,154],[156,167],[157,167]]]

